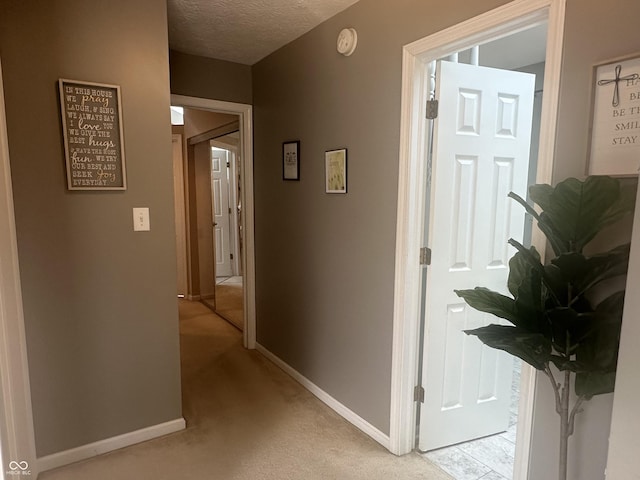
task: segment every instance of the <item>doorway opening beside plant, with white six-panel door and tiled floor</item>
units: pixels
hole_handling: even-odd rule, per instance
[[[531,223],[507,198],[535,183],[546,22],[430,65],[426,151],[430,192],[421,311],[417,449],[456,480],[513,478],[521,363],[463,330],[498,319],[470,309],[454,289],[505,294],[509,238],[528,244]],[[537,99],[537,100],[536,100]],[[514,380],[516,380],[514,382]]]

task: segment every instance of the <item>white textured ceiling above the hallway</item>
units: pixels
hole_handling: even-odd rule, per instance
[[[169,46],[253,65],[358,0],[168,0]]]

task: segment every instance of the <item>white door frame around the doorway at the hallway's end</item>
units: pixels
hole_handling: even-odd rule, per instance
[[[224,102],[199,97],[171,95],[171,105],[229,113],[240,117],[240,175],[242,177],[242,274],[244,294],[245,348],[256,348],[256,266],[253,208],[253,107],[244,103]]]

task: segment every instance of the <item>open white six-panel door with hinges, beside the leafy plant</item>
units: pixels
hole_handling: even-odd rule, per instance
[[[506,292],[509,238],[521,239],[535,76],[439,62],[418,447],[433,450],[504,431],[513,359],[463,333],[498,319],[454,289]]]

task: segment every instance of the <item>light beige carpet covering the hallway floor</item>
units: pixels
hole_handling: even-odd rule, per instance
[[[187,429],[45,472],[41,480],[447,480],[396,457],[255,351],[205,305],[181,301]]]

